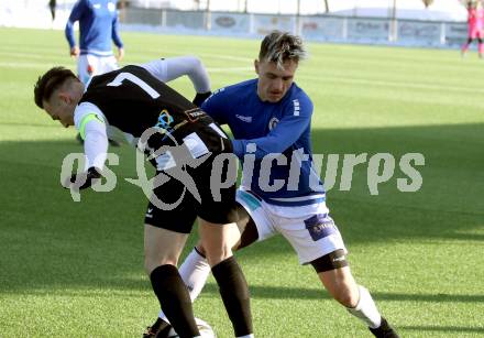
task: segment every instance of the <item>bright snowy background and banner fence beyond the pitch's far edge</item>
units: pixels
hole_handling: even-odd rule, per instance
[[[64,29],[74,0],[3,0],[0,26]],[[260,37],[278,29],[306,40],[459,47],[466,37],[460,0],[129,0],[121,30]]]

